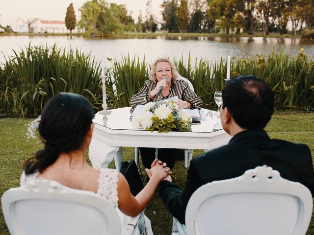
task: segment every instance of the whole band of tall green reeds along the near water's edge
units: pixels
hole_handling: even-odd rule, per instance
[[[215,108],[213,94],[224,88],[227,63],[204,58],[174,59],[179,73],[189,79],[204,108]],[[145,58],[123,56],[105,68],[108,108],[130,105],[131,96],[140,91],[148,79]],[[101,67],[90,54],[64,48],[28,46],[0,67],[0,114],[37,116],[49,98],[59,92],[73,92],[87,97],[96,111],[101,109]],[[296,56],[275,50],[268,55],[232,58],[231,77],[253,74],[270,85],[277,109],[297,108],[314,111],[314,56],[303,50]]]

